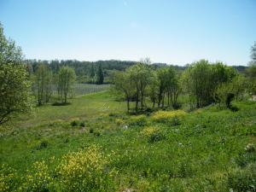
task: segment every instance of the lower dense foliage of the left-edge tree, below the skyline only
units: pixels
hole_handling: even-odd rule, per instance
[[[25,67],[10,63],[0,66],[0,124],[32,111],[30,89]]]

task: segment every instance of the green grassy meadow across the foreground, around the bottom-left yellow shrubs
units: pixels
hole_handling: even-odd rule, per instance
[[[61,156],[97,144],[110,155],[106,170],[116,171],[116,191],[253,191],[256,152],[245,148],[256,146],[255,102],[236,102],[238,112],[198,109],[177,125],[129,116],[108,91],[71,102],[40,107],[31,119],[1,128],[1,164],[13,167],[18,180],[41,160],[55,178]],[[148,127],[156,131],[145,135]]]

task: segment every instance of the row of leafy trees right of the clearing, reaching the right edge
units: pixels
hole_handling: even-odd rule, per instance
[[[201,108],[212,103],[231,108],[231,102],[240,100],[246,94],[256,95],[256,44],[252,47],[252,61],[245,73],[238,73],[234,67],[223,62],[210,63],[207,60],[189,64],[180,73],[174,67],[155,69],[150,61],[144,60],[128,67],[124,72],[113,74],[113,90],[121,93],[131,110],[135,112],[155,108],[181,108],[178,96],[188,96],[190,108]]]

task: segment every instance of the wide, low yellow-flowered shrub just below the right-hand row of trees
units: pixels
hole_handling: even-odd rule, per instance
[[[151,116],[156,122],[171,123],[172,125],[180,124],[180,119],[186,114],[183,110],[176,111],[158,111]]]

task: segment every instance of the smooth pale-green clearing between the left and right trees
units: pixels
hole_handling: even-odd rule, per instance
[[[125,112],[125,102],[116,102],[108,90],[97,91],[84,96],[75,96],[69,100],[71,105],[44,105],[35,108],[33,115],[26,121],[20,121],[21,127],[40,125],[55,120],[70,120],[73,118],[90,119],[103,113]]]

